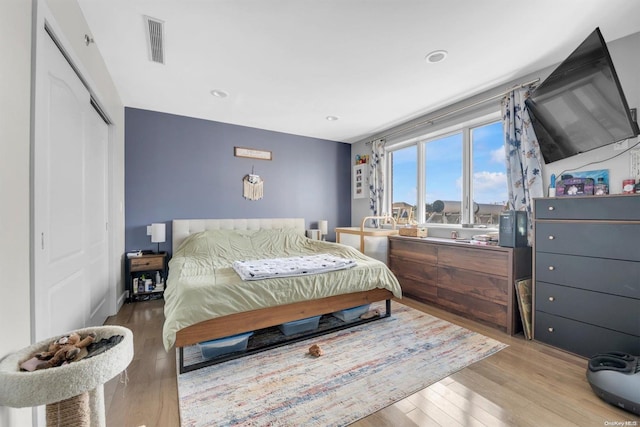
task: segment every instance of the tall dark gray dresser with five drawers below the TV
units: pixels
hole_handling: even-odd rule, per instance
[[[534,201],[534,339],[640,354],[640,196]]]

